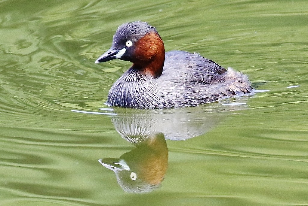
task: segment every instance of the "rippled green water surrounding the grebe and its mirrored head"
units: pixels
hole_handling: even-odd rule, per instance
[[[198,52],[269,91],[100,110],[130,63],[94,61],[135,20],[166,50]],[[306,0],[0,1],[0,205],[307,205],[307,22]],[[98,162],[134,149],[125,126],[167,139],[168,168],[150,193],[124,192]]]

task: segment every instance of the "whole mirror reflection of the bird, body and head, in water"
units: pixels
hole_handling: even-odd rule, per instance
[[[112,118],[115,129],[136,148],[119,158],[100,159],[99,163],[115,172],[124,191],[145,193],[164,180],[168,166],[166,140],[186,140],[206,133],[220,122],[225,109],[116,110],[118,115]]]

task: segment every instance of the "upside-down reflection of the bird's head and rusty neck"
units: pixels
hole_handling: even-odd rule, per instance
[[[120,158],[104,158],[99,163],[115,172],[118,183],[126,192],[150,192],[160,186],[168,166],[168,148],[164,134],[147,138],[129,137],[135,149]]]

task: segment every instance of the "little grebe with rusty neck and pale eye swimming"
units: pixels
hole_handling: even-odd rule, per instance
[[[254,93],[248,77],[231,67],[225,69],[197,53],[165,52],[162,38],[147,22],[119,26],[111,48],[95,63],[116,58],[132,66],[109,90],[109,106],[178,109]]]

